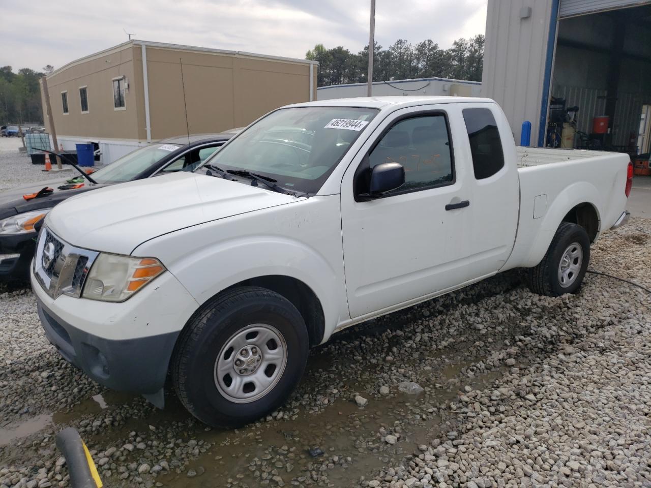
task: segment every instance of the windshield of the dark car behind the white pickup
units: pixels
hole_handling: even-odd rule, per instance
[[[92,174],[92,179],[98,183],[130,182],[141,172],[154,166],[163,157],[180,148],[178,144],[152,144],[136,149],[126,156],[116,159],[105,168]]]

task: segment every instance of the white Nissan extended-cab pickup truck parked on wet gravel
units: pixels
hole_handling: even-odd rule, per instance
[[[195,173],[69,198],[32,286],[90,377],[197,418],[277,409],[311,346],[514,267],[574,293],[628,219],[625,154],[514,146],[492,100],[354,98],[277,109]]]

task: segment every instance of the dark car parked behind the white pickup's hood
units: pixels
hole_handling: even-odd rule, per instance
[[[68,176],[68,180],[3,192],[0,194],[0,280],[29,279],[29,263],[34,256],[40,223],[66,198],[115,183],[193,171],[235,133],[167,139],[130,152],[87,176],[75,174],[72,180]],[[52,191],[43,191],[44,188]]]

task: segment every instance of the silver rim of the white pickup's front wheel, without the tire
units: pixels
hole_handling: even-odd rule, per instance
[[[255,323],[235,332],[215,360],[215,386],[234,403],[251,403],[268,394],[283,376],[287,344],[272,325]]]

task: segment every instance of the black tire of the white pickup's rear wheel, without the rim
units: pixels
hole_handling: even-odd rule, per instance
[[[572,275],[572,282],[563,286],[559,279],[559,267],[564,252],[570,245],[581,247],[583,256],[580,269]],[[577,224],[562,222],[542,261],[535,267],[529,268],[529,288],[538,295],[559,297],[565,293],[576,293],[581,288],[585,271],[590,262],[590,238],[585,229]]]

